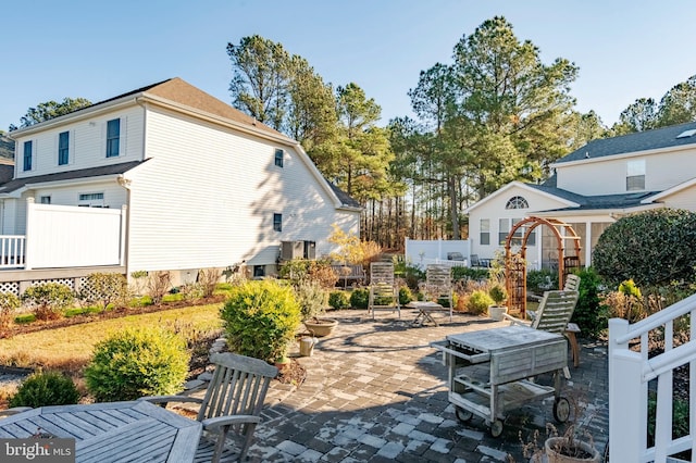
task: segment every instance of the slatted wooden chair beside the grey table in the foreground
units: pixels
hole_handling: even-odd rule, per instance
[[[200,403],[197,420],[203,425],[196,462],[243,461],[261,423],[261,409],[271,379],[278,370],[266,362],[235,353],[214,353],[213,378],[203,399],[185,396],[145,397],[166,406],[170,402]]]

